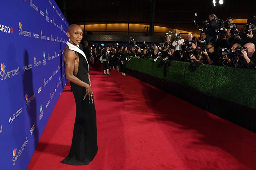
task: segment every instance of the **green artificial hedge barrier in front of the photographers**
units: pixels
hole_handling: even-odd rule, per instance
[[[189,62],[174,61],[164,77],[164,66],[152,61],[131,57],[126,67],[256,109],[256,70],[205,64],[193,70]]]

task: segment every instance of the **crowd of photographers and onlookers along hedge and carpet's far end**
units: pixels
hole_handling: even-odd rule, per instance
[[[103,74],[110,75],[109,70],[113,69],[126,76],[125,64],[127,57],[138,59],[153,59],[153,62],[161,60],[159,66],[163,66],[170,61],[184,61],[198,64],[209,64],[215,66],[227,66],[236,68],[256,69],[256,19],[250,19],[238,30],[233,24],[231,17],[226,20],[218,19],[215,14],[211,14],[207,22],[204,22],[200,37],[187,34],[184,40],[180,33],[176,34],[172,40],[170,35],[165,36],[164,46],[153,44],[148,47],[144,41],[141,46],[131,43],[130,47],[120,46],[94,47],[91,54],[86,56],[93,57],[97,62],[102,56]],[[86,49],[86,48],[85,48]]]

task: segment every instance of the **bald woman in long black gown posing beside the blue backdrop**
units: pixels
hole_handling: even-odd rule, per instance
[[[80,26],[72,24],[68,28],[67,46],[64,49],[66,79],[72,81],[76,103],[76,117],[71,149],[62,161],[70,165],[89,164],[98,151],[96,110],[91,90],[89,63],[83,51],[77,47],[82,40]]]

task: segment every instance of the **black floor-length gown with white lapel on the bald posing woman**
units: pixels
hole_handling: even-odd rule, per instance
[[[76,77],[88,83],[88,61],[76,50],[76,46],[67,43],[70,49],[77,51],[79,54],[79,68]],[[74,48],[74,49],[73,49]],[[78,48],[78,47],[77,47]],[[70,153],[62,161],[70,165],[86,165],[95,157],[98,151],[97,145],[97,126],[96,126],[96,110],[94,103],[89,103],[88,95],[83,100],[86,90],[84,87],[72,84],[72,90],[76,103],[76,117],[74,123],[73,139]]]

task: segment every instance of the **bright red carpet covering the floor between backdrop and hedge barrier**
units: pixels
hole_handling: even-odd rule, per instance
[[[91,69],[98,147],[87,166],[61,163],[70,149],[75,102],[67,84],[27,169],[253,170],[256,134],[116,70]]]

